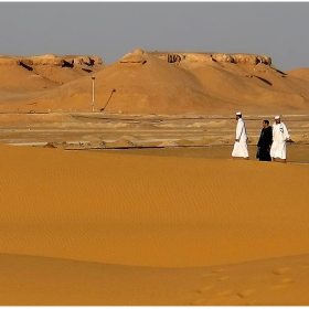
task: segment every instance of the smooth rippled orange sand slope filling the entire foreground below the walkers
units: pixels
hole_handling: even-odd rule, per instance
[[[1,305],[309,303],[309,166],[0,150]]]

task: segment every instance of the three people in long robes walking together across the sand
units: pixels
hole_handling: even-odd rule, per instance
[[[236,138],[232,151],[232,158],[243,157],[249,159],[247,148],[247,132],[242,113],[236,113]],[[287,126],[281,121],[280,116],[275,116],[273,127],[267,119],[263,120],[263,129],[257,142],[256,158],[259,161],[276,161],[280,158],[283,163],[287,162],[287,141],[291,141]]]

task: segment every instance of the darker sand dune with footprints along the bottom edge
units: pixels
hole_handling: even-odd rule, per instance
[[[308,255],[152,268],[1,254],[0,269],[7,306],[308,305]]]

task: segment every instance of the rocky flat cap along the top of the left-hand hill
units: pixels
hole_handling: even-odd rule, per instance
[[[36,66],[36,65],[49,65],[49,66],[93,66],[95,64],[103,64],[103,61],[98,56],[84,56],[84,55],[72,55],[72,56],[56,56],[54,54],[46,54],[40,56],[1,56],[0,65],[21,65],[21,66]]]

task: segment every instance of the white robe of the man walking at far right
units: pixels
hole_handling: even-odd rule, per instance
[[[271,158],[287,159],[287,139],[289,138],[289,131],[284,122],[273,125]]]

